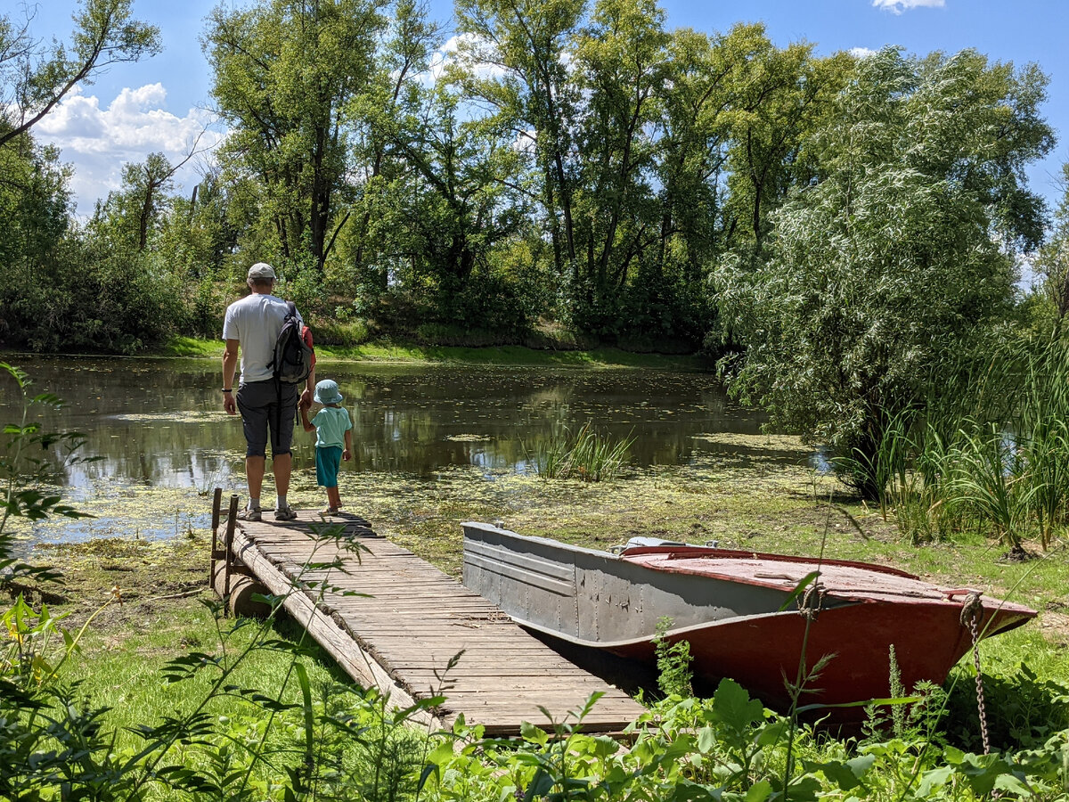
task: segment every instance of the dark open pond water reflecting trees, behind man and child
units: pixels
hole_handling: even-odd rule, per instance
[[[46,431],[83,432],[81,454],[98,458],[68,466],[59,478],[72,500],[243,483],[245,441],[239,418],[222,412],[218,360],[13,361],[30,374],[31,394],[52,392],[65,403],[34,413]],[[702,435],[756,434],[762,422],[703,373],[366,363],[324,363],[319,373],[338,382],[353,416],[354,454],[343,471],[429,481],[458,465],[477,466],[487,479],[530,473],[540,443],[587,422],[611,437],[634,438],[631,461],[639,467],[686,464],[717,448]],[[19,415],[17,388],[0,382],[0,422]],[[313,464],[312,443],[298,427],[296,468]],[[89,534],[92,526],[66,529],[69,537]]]

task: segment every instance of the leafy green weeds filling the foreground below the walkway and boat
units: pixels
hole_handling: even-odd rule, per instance
[[[487,739],[477,723],[463,721],[448,731],[420,729],[412,722],[416,711],[392,711],[373,690],[313,682],[301,649],[279,644],[269,621],[228,623],[218,617],[219,605],[214,614],[219,648],[191,651],[155,678],[169,699],[197,675],[206,675],[210,692],[191,711],[133,724],[138,745],[124,747],[108,711],[62,679],[63,663],[80,659],[78,635],[64,637],[59,660],[49,662],[49,641],[62,634],[58,622],[47,611],[34,613],[16,601],[4,616],[16,636],[0,663],[0,793],[94,800],[889,802],[978,800],[994,789],[1004,798],[1055,799],[1069,780],[1069,730],[1050,732],[1031,749],[977,755],[932,737],[929,715],[903,720],[907,725],[893,734],[872,730],[841,741],[791,727],[730,680],[708,699],[669,694],[629,727],[623,741],[583,734],[595,697],[556,719],[546,711],[546,721],[525,726],[520,739]],[[248,645],[229,651],[243,630],[253,630]],[[261,650],[285,656],[289,692],[286,683],[268,689],[235,681],[236,665]],[[448,676],[443,682],[448,685]],[[210,714],[212,703],[223,712]]]

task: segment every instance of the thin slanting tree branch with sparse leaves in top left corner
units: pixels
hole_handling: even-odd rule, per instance
[[[67,44],[49,48],[30,32],[31,16],[0,17],[0,146],[28,132],[78,84],[111,64],[160,50],[159,29],[133,19],[131,0],[84,0]]]

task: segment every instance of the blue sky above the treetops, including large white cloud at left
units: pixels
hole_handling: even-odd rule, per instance
[[[227,6],[246,4],[222,1]],[[159,27],[164,52],[111,67],[34,128],[40,141],[59,145],[62,159],[74,166],[72,188],[79,214],[89,214],[97,198],[119,186],[124,163],[141,161],[154,151],[181,160],[191,137],[211,119],[211,76],[199,40],[204,18],[217,4],[135,0],[135,16]],[[669,28],[727,31],[735,22],[762,21],[777,45],[805,41],[819,55],[889,44],[915,53],[971,47],[1019,66],[1036,62],[1050,77],[1043,111],[1058,143],[1028,176],[1052,205],[1062,197],[1060,165],[1069,160],[1066,0],[661,0],[661,5]],[[18,15],[21,3],[5,6],[2,13]],[[76,7],[74,0],[42,2],[32,32],[68,40]],[[430,9],[433,17],[449,25],[452,0],[431,0]],[[203,159],[190,163],[179,179],[196,181],[199,168]]]

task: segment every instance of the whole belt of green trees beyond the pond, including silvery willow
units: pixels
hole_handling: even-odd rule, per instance
[[[46,58],[3,17],[0,342],[217,336],[267,260],[323,343],[703,344],[874,496],[849,466],[892,420],[1069,307],[1064,214],[1025,258],[1047,219],[1024,168],[1053,146],[1034,65],[820,58],[759,25],[669,30],[654,0],[458,0],[454,21],[447,38],[413,0],[219,6],[210,172],[179,197],[180,165],[146,154],[76,221],[32,122],[158,32],[93,0]],[[1022,304],[1025,263],[1045,283]]]

